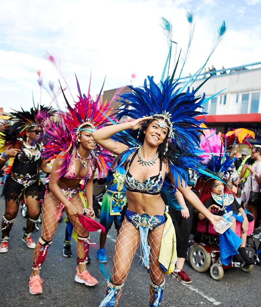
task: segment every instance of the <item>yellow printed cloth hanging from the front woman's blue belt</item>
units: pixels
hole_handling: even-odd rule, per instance
[[[175,269],[175,263],[177,262],[177,240],[176,232],[171,217],[167,212],[167,221],[164,225],[164,230],[161,238],[161,245],[159,251],[159,263],[165,268],[165,274],[170,274]]]

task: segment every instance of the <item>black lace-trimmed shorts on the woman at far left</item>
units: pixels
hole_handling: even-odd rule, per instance
[[[23,189],[24,186],[22,184],[15,182],[10,177],[7,177],[1,197],[4,197],[7,200],[15,201],[17,200],[17,197],[19,196],[19,194],[21,194]],[[25,195],[25,197],[38,197],[38,195],[40,194],[39,182],[36,181],[36,183],[33,183],[31,186],[27,187],[21,196],[23,196],[23,194]],[[17,200],[17,202],[19,201],[20,199]]]

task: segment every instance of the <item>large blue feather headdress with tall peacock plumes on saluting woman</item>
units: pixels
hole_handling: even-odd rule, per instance
[[[190,24],[191,30],[185,60],[189,53],[195,26],[193,23],[193,14],[191,12],[187,13],[187,20]],[[179,80],[173,82],[178,63],[176,64],[172,77],[165,77],[166,72],[168,73],[169,71],[172,25],[166,18],[162,18],[161,26],[163,27],[164,33],[167,37],[169,52],[160,84],[157,85],[154,82],[153,76],[148,76],[149,85],[147,85],[147,80],[145,80],[143,88],[129,86],[129,93],[119,95],[119,97],[122,98],[122,105],[115,114],[116,119],[120,120],[125,117],[137,119],[143,116],[152,116],[153,119],[159,122],[160,127],[164,127],[165,123],[167,123],[169,132],[164,154],[169,167],[171,168],[173,178],[175,179],[175,189],[177,187],[178,178],[182,180],[183,177],[187,183],[187,169],[192,169],[220,180],[218,176],[207,170],[200,163],[202,159],[198,157],[199,154],[202,154],[202,151],[199,148],[200,134],[203,133],[201,128],[203,120],[197,119],[196,116],[207,114],[202,112],[202,105],[208,99],[205,99],[205,94],[203,94],[202,97],[196,96],[198,89],[202,85],[198,86],[196,90],[189,86],[189,82],[193,81],[193,76],[183,86],[179,86]],[[216,43],[214,44],[213,49],[216,48],[218,42],[225,33],[224,27],[222,27],[222,31],[219,31],[219,33],[220,35],[216,38]],[[211,54],[213,51],[214,50],[211,51]],[[184,64],[185,61],[183,66]],[[199,75],[203,67],[196,72],[194,79],[197,78],[197,75]],[[137,140],[137,135],[135,135],[134,131],[122,131],[115,134],[112,139],[129,146],[127,151],[118,156],[118,158],[121,158],[121,163],[126,161],[127,157],[137,150],[137,148],[142,146],[140,141]]]

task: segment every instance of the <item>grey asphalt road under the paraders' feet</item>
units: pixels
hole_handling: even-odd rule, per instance
[[[2,187],[0,188],[2,193]],[[0,199],[0,216],[4,213],[4,200]],[[87,287],[74,281],[77,266],[76,243],[72,242],[73,256],[65,258],[62,254],[65,223],[58,225],[53,244],[50,246],[41,278],[44,280],[43,293],[31,295],[28,281],[31,274],[33,250],[27,248],[21,240],[26,219],[19,211],[9,239],[9,251],[0,254],[0,306],[5,307],[98,307],[103,299],[106,285],[105,277],[100,273],[96,250],[90,248],[92,262],[87,266],[90,274],[97,278],[99,284]],[[40,232],[33,234],[37,241]],[[91,238],[99,242],[99,233]],[[112,268],[112,255],[116,240],[116,231],[109,231],[106,242],[108,266]],[[140,251],[134,257],[130,273],[123,287],[119,307],[148,307],[149,275],[138,263]],[[198,273],[185,262],[184,270],[192,283],[186,285],[166,276],[162,307],[186,306],[222,306],[222,307],[260,307],[261,306],[261,266],[254,265],[251,272],[245,273],[240,268],[225,270],[219,280],[211,278],[209,270]]]

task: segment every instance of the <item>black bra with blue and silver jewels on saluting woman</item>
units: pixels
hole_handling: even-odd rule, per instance
[[[143,182],[139,182],[136,178],[131,176],[129,172],[130,165],[136,155],[137,151],[134,153],[130,161],[129,167],[126,171],[125,180],[124,180],[126,189],[130,192],[139,192],[139,193],[153,194],[153,195],[160,194],[163,185],[162,172],[161,172],[162,161],[160,160],[159,164],[159,175],[147,178]]]

